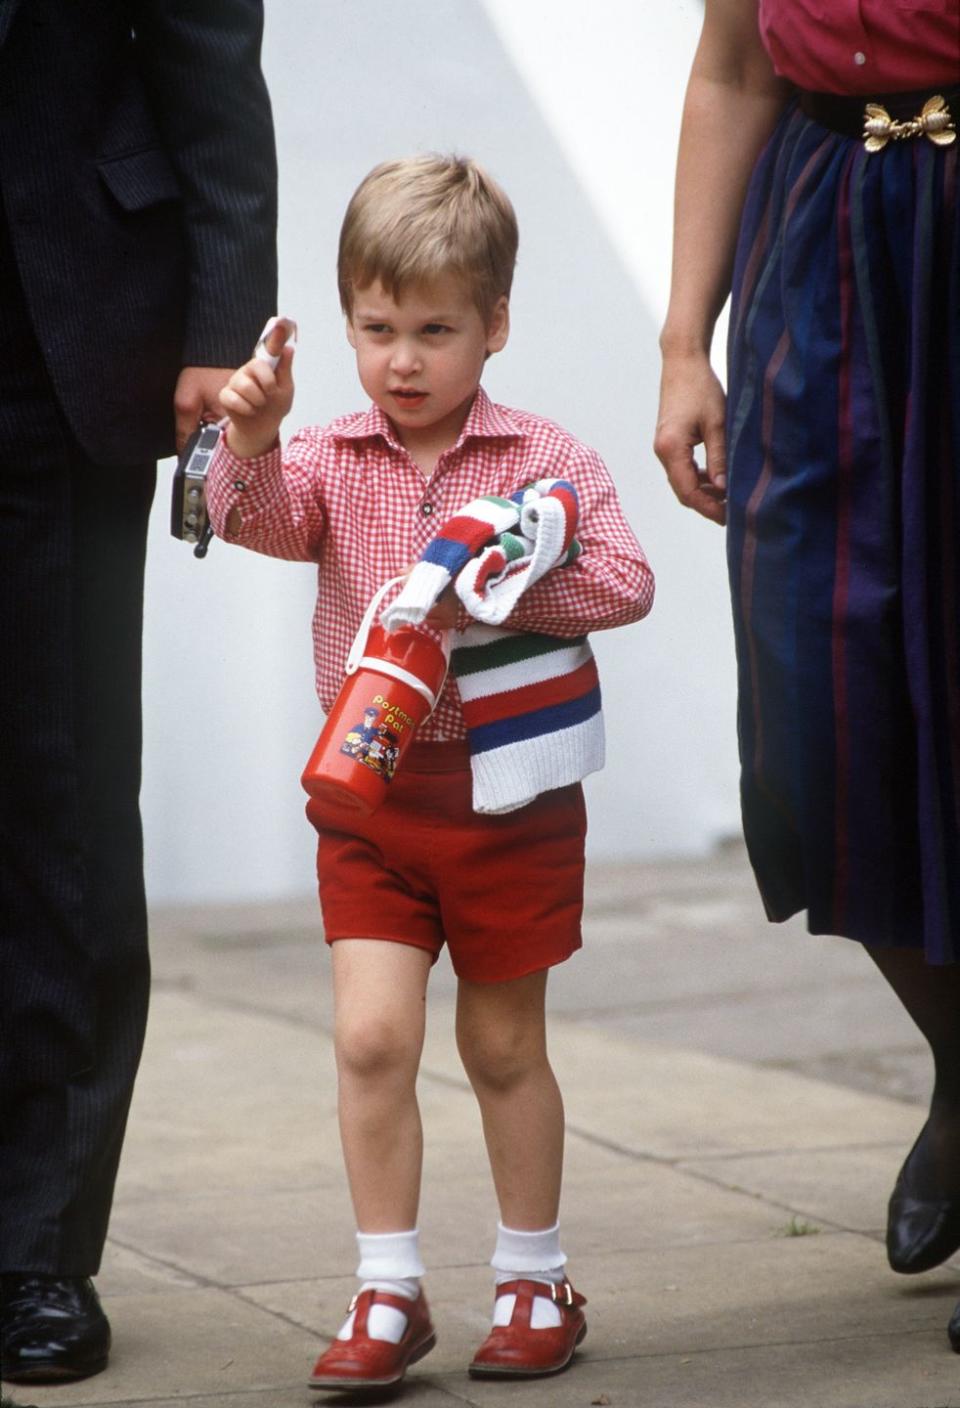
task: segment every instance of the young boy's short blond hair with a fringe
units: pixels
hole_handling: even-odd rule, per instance
[[[486,322],[510,297],[517,215],[469,156],[383,162],[353,191],[341,228],[336,282],[349,317],[353,293],[379,280],[391,298],[443,275],[463,279]]]

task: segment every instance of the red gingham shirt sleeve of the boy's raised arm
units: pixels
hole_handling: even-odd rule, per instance
[[[289,562],[317,562],[327,514],[322,493],[324,446],[317,431],[293,436],[284,453],[239,459],[220,441],[207,476],[207,511],[224,542]]]

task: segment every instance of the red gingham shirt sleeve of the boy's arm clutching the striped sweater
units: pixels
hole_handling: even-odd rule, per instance
[[[557,477],[569,479],[577,490],[580,556],[541,577],[504,625],[577,636],[639,621],[653,605],[653,573],[607,466],[595,451],[577,445]]]

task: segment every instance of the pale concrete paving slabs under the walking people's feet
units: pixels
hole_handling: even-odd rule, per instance
[[[863,953],[770,928],[739,848],[594,867],[552,976],[574,1367],[483,1384],[495,1207],[434,973],[422,1245],[438,1347],[417,1408],[960,1408],[960,1260],[894,1276],[892,1177],[929,1070]],[[352,1291],[329,984],[312,901],[153,917],[155,1001],[99,1284],[106,1374],[17,1404],[305,1408]]]

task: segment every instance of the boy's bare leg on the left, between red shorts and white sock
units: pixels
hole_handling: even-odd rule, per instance
[[[334,1045],[346,1177],[360,1232],[417,1226],[424,1136],[417,1069],[431,956],[407,943],[338,939]]]

